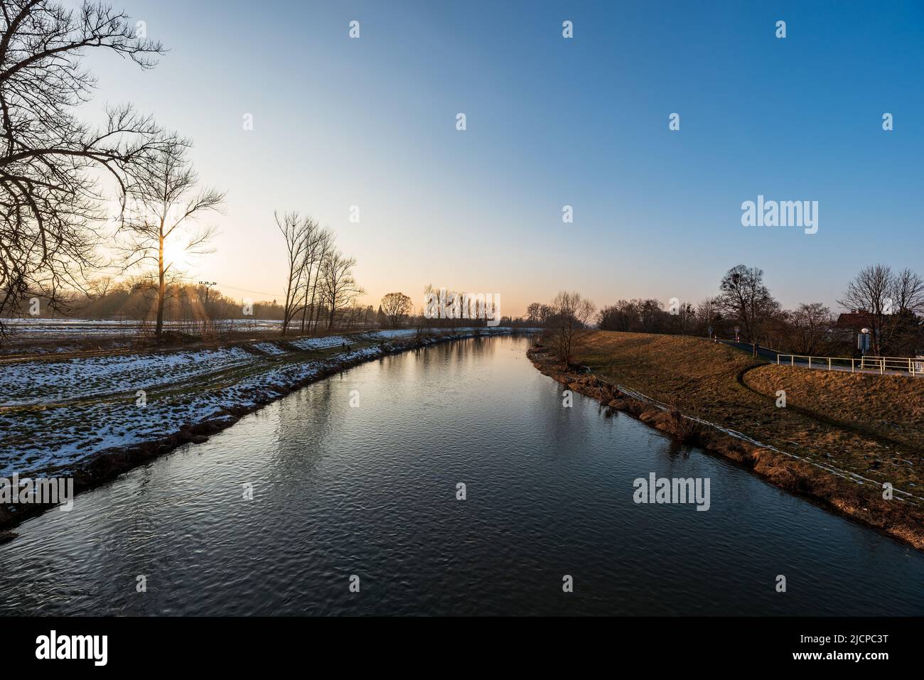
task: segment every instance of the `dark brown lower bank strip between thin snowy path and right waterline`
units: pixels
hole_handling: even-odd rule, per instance
[[[842,480],[821,468],[749,443],[715,427],[689,419],[675,409],[665,410],[590,372],[580,372],[546,352],[541,345],[527,350],[536,370],[564,384],[572,392],[590,396],[603,406],[622,411],[690,445],[729,458],[761,479],[786,492],[803,495],[835,514],[881,531],[924,551],[924,510],[904,501],[884,501],[881,488]],[[628,389],[628,388],[626,388]]]

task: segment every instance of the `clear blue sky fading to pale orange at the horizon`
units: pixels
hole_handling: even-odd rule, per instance
[[[88,58],[91,107],[195,140],[228,199],[191,275],[235,297],[282,294],[274,209],[334,228],[376,305],[428,283],[514,315],[564,288],[696,302],[744,262],[785,306],[835,308],[867,264],[924,273],[922,3],[116,6],[170,52],[148,72]],[[818,233],[742,226],[759,194],[818,200]]]

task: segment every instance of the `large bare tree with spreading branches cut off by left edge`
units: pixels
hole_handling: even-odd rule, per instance
[[[24,297],[78,286],[97,264],[104,219],[99,177],[124,198],[131,166],[164,143],[161,130],[130,106],[107,110],[103,128],[75,115],[95,79],[81,66],[87,50],[128,57],[142,69],[164,52],[142,40],[111,6],[54,0],[0,0],[0,313]]]

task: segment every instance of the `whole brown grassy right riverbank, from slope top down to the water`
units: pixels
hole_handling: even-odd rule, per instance
[[[778,367],[703,338],[602,331],[583,334],[575,353],[590,377],[541,352],[534,360],[585,394],[924,547],[924,380]],[[786,407],[776,406],[778,390]],[[884,482],[896,500],[882,499]]]

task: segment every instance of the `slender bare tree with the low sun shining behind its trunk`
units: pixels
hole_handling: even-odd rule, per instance
[[[180,274],[171,256],[212,252],[214,227],[196,221],[204,212],[220,210],[225,200],[225,194],[213,188],[197,190],[199,176],[189,162],[188,147],[188,141],[176,140],[141,168],[130,189],[132,205],[119,227],[126,269],[156,266],[158,335],[164,331],[168,276],[176,279]]]

